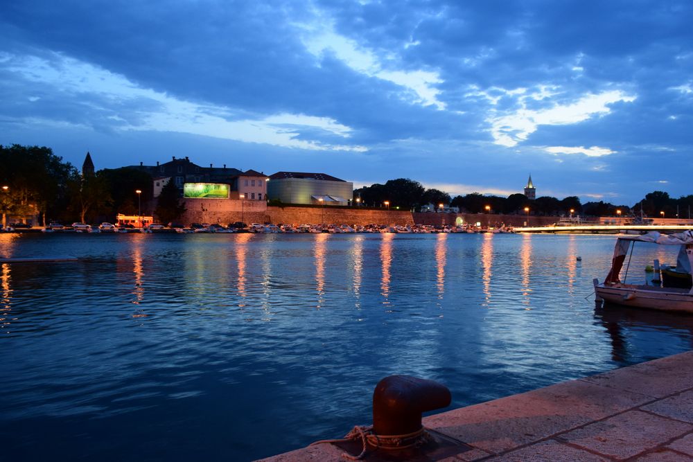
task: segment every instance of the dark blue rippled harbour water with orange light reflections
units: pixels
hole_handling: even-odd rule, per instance
[[[367,423],[393,373],[453,406],[691,348],[693,317],[595,312],[613,236],[0,235],[14,459],[247,460]],[[577,256],[582,261],[577,261]],[[629,281],[676,249],[635,251]]]

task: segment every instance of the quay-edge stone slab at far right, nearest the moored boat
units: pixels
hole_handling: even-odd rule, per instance
[[[663,398],[672,393],[693,388],[693,368],[682,368],[682,362],[693,364],[693,351],[635,364],[635,366],[616,369],[581,380],[602,385],[602,387]]]

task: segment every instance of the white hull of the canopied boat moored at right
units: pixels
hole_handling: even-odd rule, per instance
[[[677,311],[693,313],[693,294],[667,290],[665,287],[595,285],[597,301],[643,308],[647,310]]]

